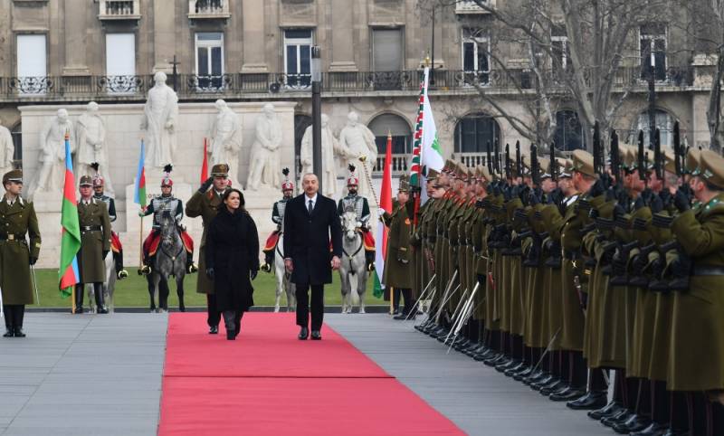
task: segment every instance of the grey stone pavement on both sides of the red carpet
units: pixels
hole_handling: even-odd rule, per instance
[[[469,434],[612,434],[585,412],[454,350],[447,355],[412,322],[382,314],[325,321]],[[0,340],[0,435],[156,434],[166,315],[32,313],[25,326],[25,339]]]

